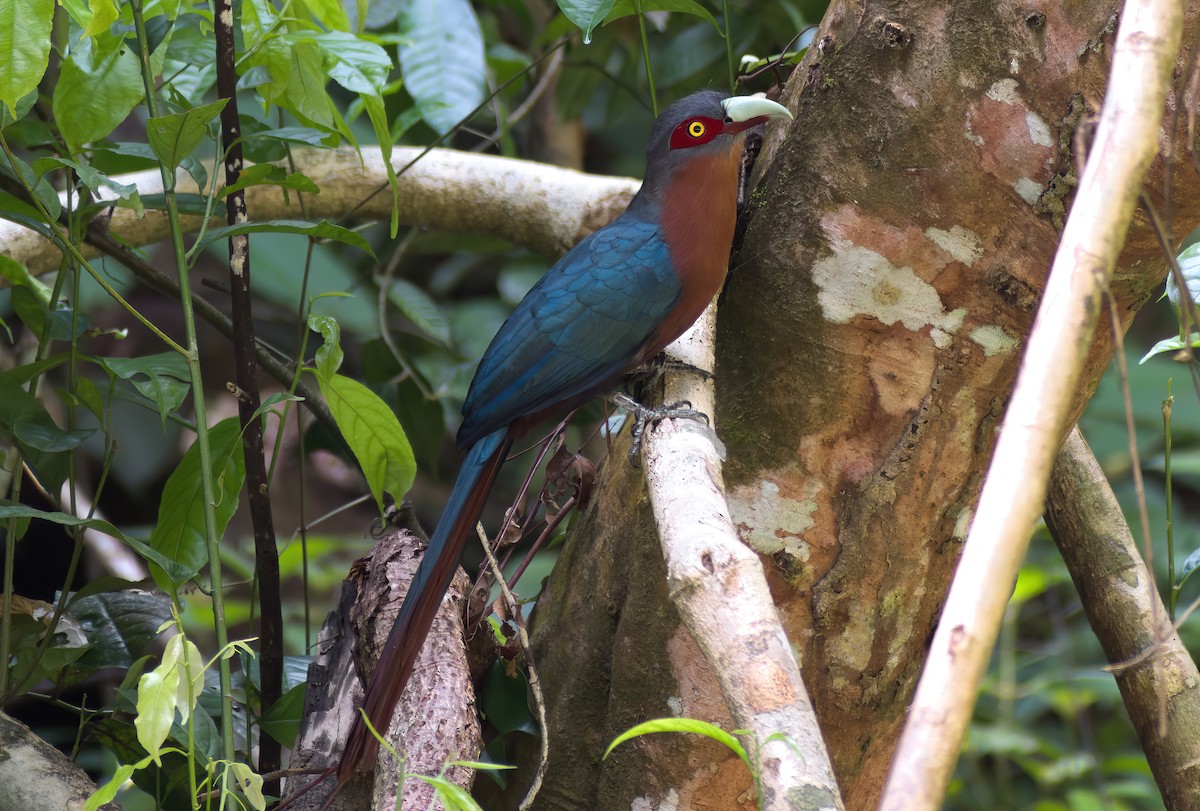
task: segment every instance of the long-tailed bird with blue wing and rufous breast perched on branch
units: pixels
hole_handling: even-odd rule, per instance
[[[611,391],[700,317],[728,269],[744,136],[791,118],[767,98],[714,90],[667,107],[629,208],[554,263],[496,334],[462,407],[466,458],[366,689],[362,713],[380,734],[514,440]],[[377,745],[358,716],[338,787],[373,768]]]

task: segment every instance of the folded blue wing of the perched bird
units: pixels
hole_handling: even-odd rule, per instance
[[[626,214],[580,242],[492,338],[463,403],[460,447],[612,382],[679,294],[655,223]]]

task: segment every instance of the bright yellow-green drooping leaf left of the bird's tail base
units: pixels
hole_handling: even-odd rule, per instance
[[[383,513],[383,494],[400,503],[416,477],[416,462],[404,429],[388,404],[358,380],[318,376],[329,410],[366,476]]]

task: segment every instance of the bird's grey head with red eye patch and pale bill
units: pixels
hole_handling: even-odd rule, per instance
[[[746,130],[791,118],[782,104],[757,96],[731,97],[715,90],[685,96],[654,121],[646,146],[646,185],[665,184],[692,158],[740,150]]]

